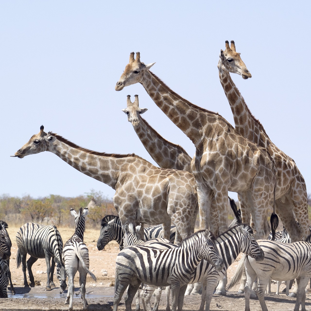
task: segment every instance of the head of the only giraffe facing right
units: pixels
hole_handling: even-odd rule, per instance
[[[235,52],[234,41],[231,40],[231,46],[229,47],[229,42],[226,40],[225,51],[220,50],[218,69],[220,72],[232,72],[237,73],[242,76],[243,79],[251,78],[252,75],[246,68],[243,60],[240,57],[241,53]]]

